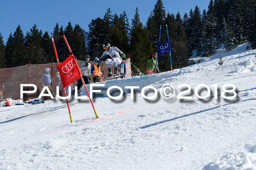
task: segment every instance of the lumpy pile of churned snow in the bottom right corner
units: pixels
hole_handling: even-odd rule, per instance
[[[248,151],[229,153],[204,166],[203,170],[250,169],[256,170],[256,145],[246,144]]]

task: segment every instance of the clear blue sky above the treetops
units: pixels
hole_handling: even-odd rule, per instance
[[[197,5],[202,13],[208,8],[210,0],[162,0],[166,13],[174,15],[179,11],[183,17],[184,13],[189,13],[190,9],[195,9]],[[69,21],[72,26],[79,24],[80,27],[88,31],[88,24],[97,17],[103,18],[108,8],[112,15],[120,15],[123,11],[127,13],[129,23],[135,15],[136,7],[139,8],[140,20],[146,24],[150,12],[154,9],[157,0],[2,0],[0,5],[0,32],[4,37],[4,43],[10,33],[14,33],[18,25],[26,35],[27,31],[34,24],[43,32],[53,32],[53,28],[58,23],[67,27]]]

